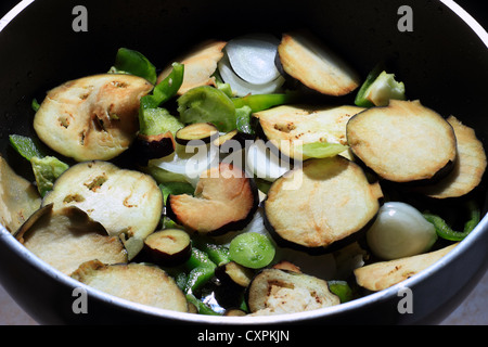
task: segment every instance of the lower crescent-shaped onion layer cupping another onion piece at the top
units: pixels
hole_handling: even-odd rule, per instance
[[[232,91],[237,97],[245,97],[247,94],[270,94],[279,91],[281,86],[283,86],[285,79],[283,76],[279,76],[277,79],[265,85],[253,85],[241,79],[232,70],[230,66],[229,57],[223,55],[219,64],[219,73],[226,83],[231,86]]]

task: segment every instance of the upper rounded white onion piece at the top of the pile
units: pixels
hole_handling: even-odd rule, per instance
[[[253,85],[266,85],[278,77],[275,66],[280,40],[270,34],[252,34],[230,40],[226,52],[234,73]]]

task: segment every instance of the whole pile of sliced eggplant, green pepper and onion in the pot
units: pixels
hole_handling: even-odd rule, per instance
[[[144,305],[339,305],[427,268],[481,218],[475,131],[408,100],[382,65],[361,85],[311,33],[205,41],[160,72],[121,48],[33,106],[38,137],[10,141],[36,182],[0,157],[1,223]]]

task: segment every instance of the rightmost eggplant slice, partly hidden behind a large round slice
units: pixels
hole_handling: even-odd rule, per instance
[[[470,193],[481,182],[487,167],[486,153],[474,129],[463,125],[454,116],[447,121],[452,126],[458,143],[454,168],[434,185],[419,190],[435,198],[459,197]]]

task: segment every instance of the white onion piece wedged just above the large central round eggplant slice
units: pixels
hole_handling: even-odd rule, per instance
[[[291,170],[288,160],[280,159],[265,144],[258,140],[249,145],[246,153],[246,166],[256,177],[273,182]]]

